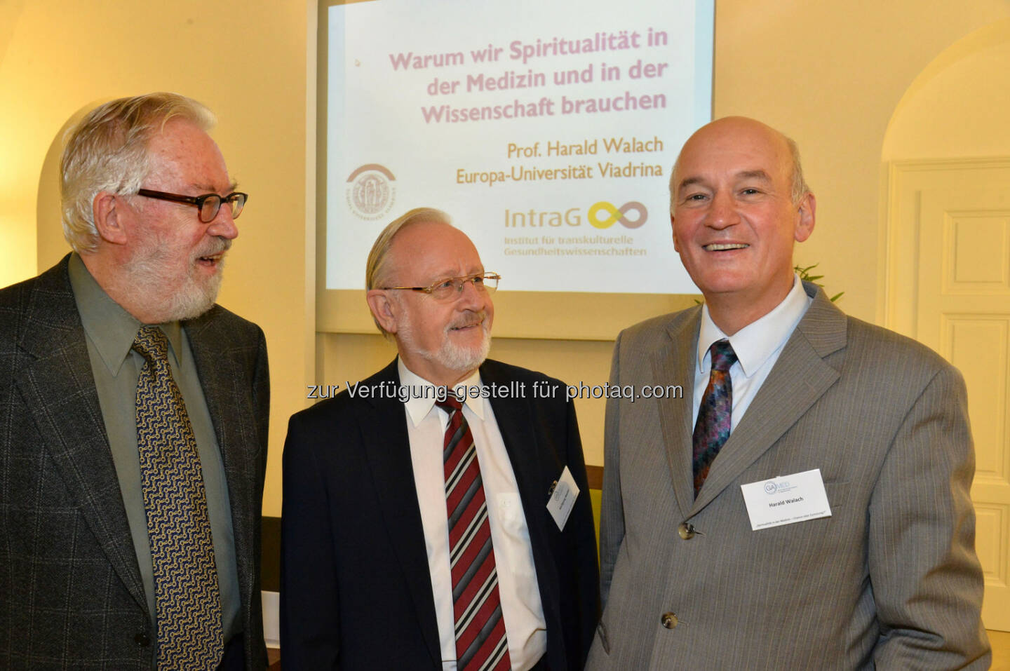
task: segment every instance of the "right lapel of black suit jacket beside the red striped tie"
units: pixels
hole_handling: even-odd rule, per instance
[[[486,384],[508,384],[512,381],[503,375],[495,361],[486,361],[481,366],[481,380]],[[550,547],[546,527],[554,523],[545,511],[549,483],[561,477],[565,464],[561,463],[549,450],[538,448],[536,431],[531,421],[532,413],[526,405],[529,403],[527,399],[508,397],[494,398],[490,401],[519,488],[519,499],[522,501],[526,528],[529,531],[529,543],[533,550],[540,601],[549,631],[551,628],[562,626],[558,587],[561,578],[558,575],[558,566],[552,560],[556,553]],[[585,493],[588,495],[589,492]]]

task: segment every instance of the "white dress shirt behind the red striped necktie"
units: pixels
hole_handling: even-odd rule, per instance
[[[448,414],[434,405],[434,384],[411,372],[399,360],[400,383],[431,387],[431,394],[414,394],[404,404],[410,458],[414,467],[417,504],[424,527],[431,591],[435,602],[442,670],[456,671],[456,619],[452,610],[452,576],[448,561],[448,520],[445,511],[445,472],[442,445]],[[481,385],[480,373],[460,384]],[[533,566],[526,516],[519,500],[512,462],[509,460],[498,423],[488,399],[468,397],[463,410],[470,425],[481,466],[484,494],[488,500],[491,542],[498,571],[498,593],[508,637],[513,671],[526,671],[546,653],[547,631],[540,602],[540,589]]]

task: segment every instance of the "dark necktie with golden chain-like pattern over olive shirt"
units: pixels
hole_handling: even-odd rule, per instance
[[[196,438],[169,367],[168,340],[141,326],[136,446],[155,574],[159,669],[215,669],[224,650],[221,599]]]

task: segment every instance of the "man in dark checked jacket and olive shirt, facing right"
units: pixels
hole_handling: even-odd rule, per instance
[[[246,195],[171,93],[75,126],[74,251],[0,291],[0,668],[264,669],[263,331],[214,304]]]

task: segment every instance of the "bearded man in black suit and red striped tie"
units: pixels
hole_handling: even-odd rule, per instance
[[[372,247],[369,308],[399,356],[291,418],[287,671],[582,669],[599,591],[575,409],[560,380],[486,360],[498,279],[438,210]]]

